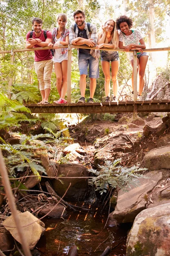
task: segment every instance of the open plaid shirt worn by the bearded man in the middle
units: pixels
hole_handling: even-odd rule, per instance
[[[78,36],[79,29],[78,29],[78,27],[76,27],[76,32],[74,32],[74,24],[75,23],[71,24],[71,26],[69,28],[69,44],[71,44],[72,40],[77,38],[77,36]],[[90,24],[91,32],[89,32],[87,22],[85,22],[85,29],[86,29],[88,39],[92,38],[94,40],[95,44],[97,45],[98,36],[97,36],[96,25]],[[79,49],[77,49],[77,50],[78,50],[78,54],[79,54]],[[98,59],[100,57],[100,50],[91,49],[90,54],[94,58]]]

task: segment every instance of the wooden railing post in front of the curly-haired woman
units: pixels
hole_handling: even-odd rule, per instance
[[[133,119],[137,117],[137,54],[136,50],[133,51]]]

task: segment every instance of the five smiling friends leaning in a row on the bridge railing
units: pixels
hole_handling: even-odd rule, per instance
[[[26,48],[33,47],[51,47],[54,49],[54,57],[51,49],[35,50],[34,67],[37,73],[40,93],[42,96],[41,104],[48,104],[48,97],[51,90],[51,73],[53,69],[56,74],[56,87],[59,93],[59,99],[54,103],[67,103],[65,94],[67,92],[67,65],[68,48],[61,48],[68,44],[77,46],[96,47],[96,49],[78,49],[78,63],[80,72],[80,92],[81,98],[78,102],[85,103],[86,77],[90,78],[90,98],[88,103],[94,102],[94,93],[96,89],[96,79],[99,78],[99,57],[101,55],[101,65],[105,76],[105,95],[106,102],[110,102],[110,80],[113,81],[113,101],[117,101],[118,81],[117,73],[119,70],[119,52],[100,50],[102,47],[113,49],[124,49],[127,52],[130,63],[133,67],[133,52],[137,50],[137,71],[139,69],[139,94],[142,94],[144,87],[144,72],[148,60],[148,53],[143,52],[146,48],[144,39],[137,29],[132,29],[133,21],[122,15],[114,21],[109,19],[102,26],[102,30],[97,33],[96,26],[85,21],[85,12],[77,10],[74,12],[74,21],[69,29],[66,28],[67,16],[59,14],[57,17],[58,27],[51,31],[42,29],[42,20],[35,17],[32,20],[33,31],[26,35]],[[111,74],[110,74],[111,62]],[[132,73],[133,90],[133,73]],[[133,93],[133,91],[132,91]]]

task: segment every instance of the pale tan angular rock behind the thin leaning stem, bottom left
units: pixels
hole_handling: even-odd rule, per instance
[[[45,232],[45,224],[40,221],[38,218],[36,218],[31,212],[20,212],[17,211],[18,217],[20,219],[20,224],[23,226],[23,233],[26,238],[28,247],[30,250],[34,249],[35,245],[37,244],[38,240],[40,239],[40,236]],[[37,222],[34,222],[37,221]],[[33,224],[31,224],[34,222]],[[28,224],[31,224],[29,226],[26,226]],[[15,227],[13,216],[6,218],[5,221],[3,221],[3,226],[11,233],[11,235],[14,237],[15,240],[17,240],[20,244],[20,237],[18,235],[17,228]],[[26,226],[26,227],[24,227]]]

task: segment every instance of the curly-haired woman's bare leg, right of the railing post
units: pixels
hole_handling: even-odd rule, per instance
[[[144,72],[147,64],[148,56],[141,56],[139,58],[139,95],[142,94],[144,87]]]

